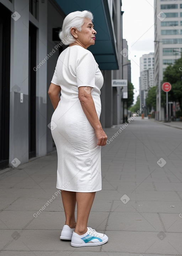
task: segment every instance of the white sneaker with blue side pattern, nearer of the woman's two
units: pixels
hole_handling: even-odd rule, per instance
[[[73,231],[71,238],[71,246],[81,247],[81,246],[96,246],[103,245],[108,241],[108,237],[105,234],[101,234],[87,227],[87,232],[84,235],[78,235]]]

